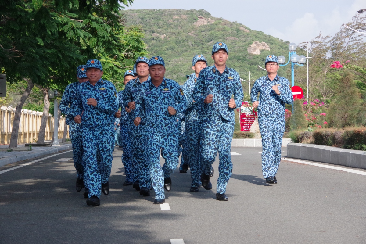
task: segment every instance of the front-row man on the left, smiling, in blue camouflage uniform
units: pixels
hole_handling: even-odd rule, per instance
[[[116,88],[103,80],[99,60],[88,60],[86,76],[89,81],[78,86],[74,103],[75,122],[81,122],[83,135],[84,177],[89,189],[87,205],[99,206],[101,191],[109,193],[109,175],[112,168],[113,123],[118,110]],[[98,159],[97,160],[97,153]]]

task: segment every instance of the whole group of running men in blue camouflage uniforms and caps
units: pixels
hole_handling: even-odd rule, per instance
[[[78,67],[78,82],[67,86],[60,109],[69,125],[76,191],[85,187],[87,205],[99,206],[101,192],[109,193],[116,118],[126,174],[123,185],[132,185],[143,196],[154,189],[154,204],[164,203],[164,189],[172,188],[171,174],[178,166],[182,145],[180,172],[190,169],[190,191],[198,192],[201,184],[206,190],[212,189],[212,164],[219,153],[216,199],[228,200],[225,192],[232,174],[234,109],[240,108],[244,97],[238,72],[226,66],[228,53],[224,42],[214,44],[214,65],[210,67],[203,55],[195,55],[194,72],[183,86],[164,77],[162,57],[139,57],[134,70],[124,74],[125,88],[119,93],[111,82],[101,78],[99,60],[88,60]],[[262,169],[269,184],[277,183],[285,103],[292,103],[291,86],[277,75],[278,68],[277,57],[269,55],[268,75],[259,78],[251,90],[262,134]],[[165,159],[163,166],[160,155]]]

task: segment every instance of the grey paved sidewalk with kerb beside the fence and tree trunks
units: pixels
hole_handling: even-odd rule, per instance
[[[50,141],[51,142],[51,141]],[[61,142],[61,139],[59,139]],[[18,147],[24,147],[24,144],[18,144]],[[0,148],[6,148],[9,145],[1,145]],[[65,143],[64,146],[52,146],[52,147],[32,147],[31,151],[0,151],[0,167],[19,162],[22,160],[37,158],[43,155],[57,153],[59,151],[72,150],[71,143]]]

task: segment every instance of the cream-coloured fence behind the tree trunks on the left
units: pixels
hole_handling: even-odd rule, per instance
[[[0,108],[0,144],[9,144],[11,137],[11,130],[14,121],[15,108],[1,106]],[[43,113],[22,109],[19,123],[18,144],[32,143],[38,139],[40,125]],[[51,140],[53,136],[53,116],[48,115],[45,140]],[[64,131],[65,118],[61,116],[59,121],[58,138],[62,138]]]

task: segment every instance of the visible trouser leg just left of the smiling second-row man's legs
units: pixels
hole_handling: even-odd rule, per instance
[[[122,164],[124,167],[124,173],[126,174],[126,180],[134,182],[134,168],[132,164],[132,142],[130,137],[130,125],[125,120],[120,124],[121,127],[121,138],[122,138],[122,149],[123,154],[121,156]]]

